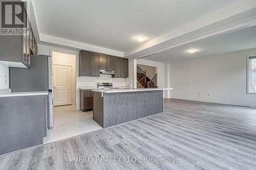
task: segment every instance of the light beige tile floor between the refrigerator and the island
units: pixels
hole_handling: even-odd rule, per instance
[[[86,134],[102,129],[93,120],[93,112],[76,110],[74,105],[53,107],[53,129],[48,130],[44,143]]]

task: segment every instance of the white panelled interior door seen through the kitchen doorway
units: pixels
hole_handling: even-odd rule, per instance
[[[72,104],[72,67],[53,65],[53,105]]]

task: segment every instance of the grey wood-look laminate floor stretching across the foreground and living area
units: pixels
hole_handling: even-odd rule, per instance
[[[256,169],[256,110],[168,99],[164,113],[0,157],[0,169]]]

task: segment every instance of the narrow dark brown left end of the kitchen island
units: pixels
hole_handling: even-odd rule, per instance
[[[93,92],[93,120],[97,122],[102,128],[103,125],[103,98],[101,92]]]

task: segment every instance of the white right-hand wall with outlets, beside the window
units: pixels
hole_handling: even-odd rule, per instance
[[[246,94],[246,55],[250,54],[256,54],[256,48],[170,64],[171,97],[256,106],[256,95]]]

